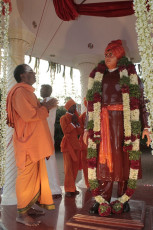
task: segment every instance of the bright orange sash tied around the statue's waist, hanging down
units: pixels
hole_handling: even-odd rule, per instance
[[[99,163],[107,163],[110,172],[112,172],[113,162],[109,130],[109,110],[123,111],[123,105],[108,105],[103,107],[101,110],[101,142],[99,150]]]

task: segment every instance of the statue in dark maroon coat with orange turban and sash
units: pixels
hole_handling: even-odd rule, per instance
[[[124,123],[126,123],[126,120],[124,120],[123,116],[120,74],[117,67],[117,63],[124,55],[125,51],[121,40],[112,41],[105,49],[106,68],[104,67],[105,72],[101,85],[101,140],[100,145],[98,146],[96,175],[99,182],[98,195],[101,195],[108,203],[112,196],[113,182],[118,182],[117,196],[121,197],[127,189],[127,181],[129,178],[129,153],[123,152]],[[99,65],[91,72],[90,76],[95,76],[95,73],[100,72],[103,66],[104,65],[99,63]],[[140,79],[138,79],[138,81],[141,91],[139,110],[141,123],[144,128],[143,137],[144,135],[147,136],[147,145],[149,145],[150,137],[147,129],[147,112],[143,97],[143,88]],[[103,111],[106,110],[107,112],[104,114]],[[105,129],[106,121],[109,126]],[[107,141],[105,142],[105,140]],[[139,169],[138,177],[141,178],[141,168]],[[99,202],[95,202],[90,209],[90,213],[98,213],[98,208]],[[124,212],[129,211],[128,202],[125,203],[123,208]]]

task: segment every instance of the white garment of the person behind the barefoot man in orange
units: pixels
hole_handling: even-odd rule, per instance
[[[46,101],[50,99],[51,97],[47,97]],[[47,118],[48,126],[51,132],[53,142],[54,142],[55,119],[56,119],[56,108],[53,108],[49,111],[49,117]],[[47,167],[49,185],[50,185],[52,194],[53,195],[62,194],[62,190],[60,188],[60,181],[59,181],[59,175],[58,175],[58,170],[57,170],[55,152],[52,156],[50,156],[49,160],[46,160],[46,167]]]

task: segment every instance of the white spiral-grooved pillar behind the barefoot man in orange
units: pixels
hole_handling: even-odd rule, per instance
[[[22,39],[11,38],[9,40],[9,61],[8,61],[8,90],[16,84],[13,76],[15,67],[24,63],[24,54],[29,47],[28,42]],[[5,184],[3,186],[2,205],[16,205],[16,163],[14,157],[14,148],[12,141],[13,129],[7,128],[7,152],[5,166]]]

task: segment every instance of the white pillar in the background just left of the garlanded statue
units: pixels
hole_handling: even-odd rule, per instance
[[[95,63],[93,62],[82,62],[78,64],[78,69],[80,70],[80,82],[81,82],[81,113],[85,111],[84,100],[83,98],[86,96],[88,90],[88,78],[89,74],[95,67]],[[82,179],[77,183],[77,186],[86,188],[84,175],[82,170]]]

